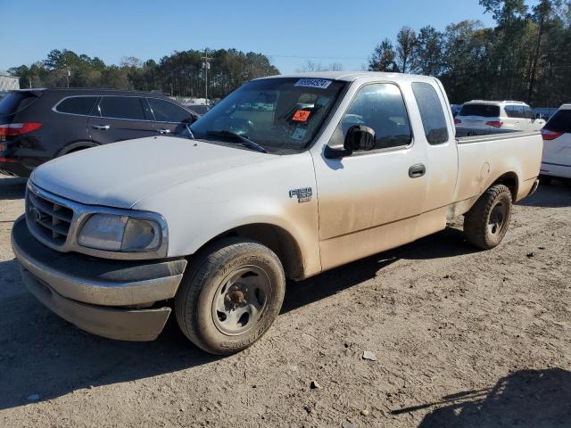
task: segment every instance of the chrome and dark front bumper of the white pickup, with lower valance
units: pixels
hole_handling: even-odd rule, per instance
[[[126,341],[161,333],[170,308],[156,302],[175,296],[186,268],[186,259],[119,261],[54,251],[29,233],[23,216],[12,228],[12,250],[24,284],[47,308],[87,332]]]

